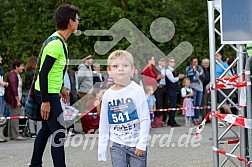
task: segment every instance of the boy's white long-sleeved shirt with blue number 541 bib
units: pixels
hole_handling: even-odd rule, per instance
[[[143,88],[132,81],[120,90],[108,89],[102,99],[98,160],[107,160],[109,140],[146,151],[150,115]]]

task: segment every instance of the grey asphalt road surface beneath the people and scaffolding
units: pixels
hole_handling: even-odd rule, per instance
[[[183,123],[183,118],[178,118],[179,123]],[[76,129],[81,131],[79,123]],[[205,126],[202,135],[195,136],[196,126],[151,129],[148,148],[149,167],[210,167],[213,166],[212,131],[211,124]],[[239,133],[239,128],[234,127],[234,131]],[[1,128],[0,128],[1,130]],[[223,132],[224,128],[219,128]],[[8,138],[7,138],[8,139]],[[235,139],[232,132],[228,132],[223,140]],[[0,166],[2,167],[25,167],[30,163],[34,139],[26,141],[8,140],[0,143]],[[107,162],[97,161],[97,135],[80,134],[68,137],[65,143],[66,162],[68,167],[107,167],[112,166],[110,157]],[[226,150],[231,150],[234,145],[223,146]],[[239,148],[235,151],[239,155]],[[220,156],[220,160],[225,157]],[[239,164],[236,159],[234,162]],[[43,166],[51,167],[50,144],[44,152]],[[230,162],[227,167],[234,166]]]

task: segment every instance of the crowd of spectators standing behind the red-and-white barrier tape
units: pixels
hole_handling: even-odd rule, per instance
[[[1,57],[0,60],[2,61]],[[18,76],[19,73],[23,71],[24,63],[21,60],[17,61],[20,62],[17,65],[14,64],[13,70],[8,75],[7,82],[5,82],[3,79],[3,69],[0,69],[0,97],[2,97],[0,98],[1,115],[4,115],[4,88],[6,88],[8,93],[10,88],[13,89],[15,87],[16,94],[12,97],[14,99],[19,98],[21,105],[21,97],[19,96],[20,93],[18,92],[22,92],[22,78]],[[223,74],[225,68],[227,68],[228,65],[234,61],[234,59],[229,58],[226,59],[226,61],[227,63],[222,60],[221,54],[216,54],[216,78],[230,77],[235,74],[236,64],[234,64],[226,74]],[[35,66],[36,58],[31,57],[25,68],[25,84],[23,87],[26,95],[29,90],[29,85],[32,81]],[[15,84],[15,86],[9,86],[9,84],[13,82],[13,77],[15,79],[15,83],[17,84]],[[184,79],[183,84],[180,83],[182,82],[182,79]],[[201,106],[208,106],[210,103],[210,69],[209,59],[207,58],[203,59],[201,65],[199,65],[198,57],[192,57],[190,64],[184,71],[184,74],[177,74],[175,58],[160,58],[157,60],[156,65],[155,57],[152,55],[147,55],[145,67],[142,70],[135,69],[132,80],[143,86],[146,90],[146,100],[149,104],[152,128],[163,127],[164,125],[171,127],[181,126],[175,119],[177,111],[176,108],[178,107],[178,98],[181,99],[180,101],[183,101],[181,104],[183,106],[182,114],[185,115],[186,126],[199,125],[201,121],[200,115],[202,115],[202,118],[204,118],[207,112],[210,111],[207,108],[200,108]],[[100,64],[95,62],[93,56],[89,53],[83,54],[82,63],[78,66],[77,71],[71,69],[70,66],[67,67],[64,75],[64,87],[69,90],[70,105],[73,105],[84,96],[88,96],[88,100],[82,104],[81,108],[83,110],[80,112],[95,113],[93,115],[91,114],[81,118],[82,128],[85,133],[88,133],[91,129],[98,129],[102,95],[104,91],[106,91],[112,85],[113,78],[106,70],[101,71]],[[223,90],[223,92],[227,94],[230,92],[230,90]],[[237,95],[235,97],[237,98]],[[9,99],[6,98],[6,100]],[[223,100],[224,96],[217,91],[217,102],[221,103]],[[6,101],[7,105],[11,109],[11,115],[20,115],[23,108],[20,107],[18,108],[20,111],[17,111],[15,108],[11,107],[12,105],[10,102],[10,100]],[[173,110],[170,110],[171,108]],[[223,103],[221,108],[223,108],[225,113],[232,113],[227,102]],[[18,113],[15,114],[15,111]],[[221,112],[221,110],[219,112]],[[36,138],[39,127],[39,122],[29,120],[29,129],[32,138]],[[16,120],[10,120],[9,137],[11,139],[24,140],[25,138],[19,135],[17,128],[18,122]],[[68,131],[70,131],[71,135],[79,133],[74,129],[74,124],[68,127]],[[6,142],[6,140],[0,139],[0,142]]]

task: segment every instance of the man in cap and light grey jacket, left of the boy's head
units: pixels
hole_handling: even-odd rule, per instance
[[[82,57],[83,63],[78,67],[78,98],[84,97],[93,87],[93,72],[91,65],[93,63],[92,55],[85,53]]]

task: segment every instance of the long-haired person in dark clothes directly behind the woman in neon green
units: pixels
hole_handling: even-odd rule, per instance
[[[29,90],[31,88],[32,80],[34,78],[36,65],[37,65],[37,58],[30,57],[28,59],[26,66],[25,66],[25,85],[24,85],[24,88],[26,90],[26,99],[29,95]],[[29,119],[28,123],[29,123],[29,130],[30,130],[31,138],[34,139],[37,137],[37,133],[39,132],[39,130],[42,126],[42,122]]]

